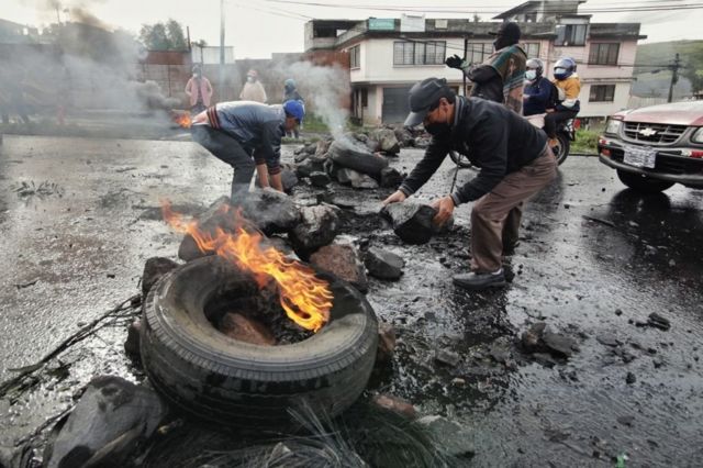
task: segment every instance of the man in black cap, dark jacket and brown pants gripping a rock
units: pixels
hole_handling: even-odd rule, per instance
[[[556,176],[557,164],[544,132],[504,105],[456,96],[445,79],[427,78],[410,90],[405,126],[423,123],[433,135],[423,159],[383,204],[402,202],[458,151],[481,170],[454,193],[433,202],[434,222],[444,224],[460,203],[471,211],[471,272],[454,283],[469,290],[505,285],[502,255],[517,243],[523,203]],[[468,148],[471,148],[468,152]]]

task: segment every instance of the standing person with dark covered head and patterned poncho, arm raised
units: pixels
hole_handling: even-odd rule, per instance
[[[527,55],[520,45],[520,26],[513,22],[501,23],[495,32],[491,54],[482,64],[469,64],[454,55],[447,58],[448,67],[458,68],[473,82],[471,96],[505,104],[507,109],[522,114],[523,81]]]

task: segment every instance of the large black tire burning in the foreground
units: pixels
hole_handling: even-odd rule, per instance
[[[232,288],[250,296],[250,276],[212,256],[171,271],[144,303],[141,352],[149,380],[188,413],[230,425],[288,423],[287,410],[301,399],[330,415],[341,413],[366,388],[378,322],[350,285],[319,277],[334,294],[330,322],[303,342],[259,346],[220,333],[204,312]]]

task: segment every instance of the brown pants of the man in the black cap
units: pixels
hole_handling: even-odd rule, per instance
[[[509,174],[471,211],[471,270],[492,272],[501,268],[503,246],[517,242],[523,203],[557,175],[557,160],[547,146],[522,169]]]

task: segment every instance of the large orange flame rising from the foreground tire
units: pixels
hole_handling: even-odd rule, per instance
[[[180,213],[174,212],[168,201],[161,204],[166,222],[176,231],[190,234],[201,252],[214,252],[241,269],[250,271],[259,288],[276,281],[281,307],[290,320],[313,332],[327,323],[333,300],[330,285],[317,279],[309,266],[286,258],[274,247],[261,246],[264,235],[245,231],[238,210],[234,212],[236,234],[217,227],[212,235],[201,230],[197,220],[185,220]],[[228,211],[230,208],[224,205],[222,214]]]

